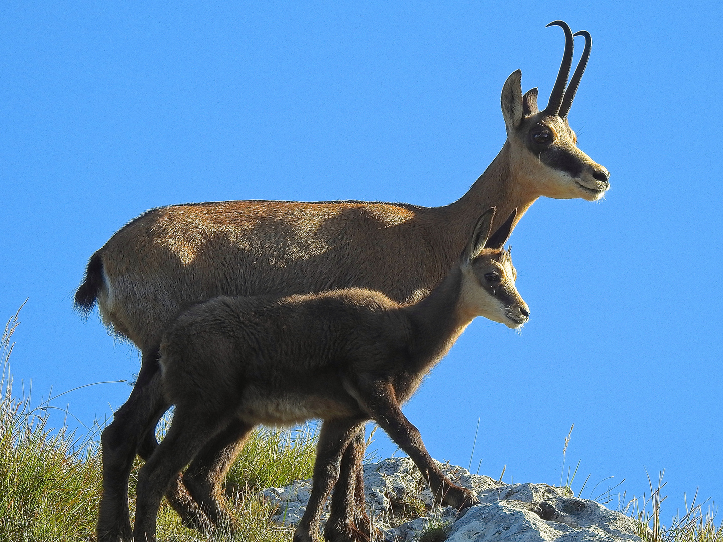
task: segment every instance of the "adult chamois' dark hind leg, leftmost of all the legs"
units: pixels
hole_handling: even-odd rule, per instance
[[[144,353],[138,379],[114,421],[103,430],[103,496],[100,499],[98,542],[131,540],[128,514],[128,476],[140,435],[166,410],[158,391],[158,353]],[[160,410],[160,413],[158,412]]]

